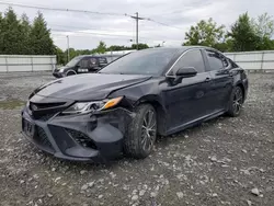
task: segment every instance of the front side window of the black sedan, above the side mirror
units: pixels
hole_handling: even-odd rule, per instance
[[[205,72],[205,64],[199,49],[185,53],[169,75],[175,75],[180,68],[184,67],[194,67],[198,73]]]

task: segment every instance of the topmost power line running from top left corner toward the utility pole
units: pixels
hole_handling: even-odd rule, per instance
[[[50,10],[50,11],[91,13],[91,14],[100,14],[100,15],[118,15],[118,16],[124,15],[124,14],[112,13],[112,12],[98,12],[98,11],[76,10],[76,9],[48,8],[48,7],[42,7],[42,5],[30,5],[30,4],[23,4],[23,3],[7,2],[7,1],[0,1],[0,4],[13,5],[13,7],[20,7],[20,8],[39,9],[39,10]]]

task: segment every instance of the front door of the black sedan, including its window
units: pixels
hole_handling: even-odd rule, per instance
[[[194,67],[198,73],[192,78],[184,78],[176,84],[169,83],[168,79],[167,84],[161,85],[168,112],[168,129],[186,125],[212,112],[208,110],[210,75],[205,70],[201,49],[191,49],[183,54],[167,75],[175,77],[178,69],[186,67]]]

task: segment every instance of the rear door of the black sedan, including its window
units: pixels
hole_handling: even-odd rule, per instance
[[[204,49],[203,53],[206,57],[207,70],[213,79],[210,84],[210,95],[214,96],[214,101],[210,103],[212,110],[218,112],[226,108],[232,90],[233,78],[230,72],[230,62],[222,54],[214,49]]]

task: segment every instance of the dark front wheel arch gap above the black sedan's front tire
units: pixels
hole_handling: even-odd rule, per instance
[[[157,113],[157,127],[158,127],[158,134],[164,135],[167,130],[167,111],[163,106],[163,104],[160,101],[160,98],[158,95],[149,94],[146,96],[140,98],[134,106],[138,106],[140,104],[150,104],[155,107]]]

